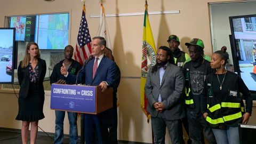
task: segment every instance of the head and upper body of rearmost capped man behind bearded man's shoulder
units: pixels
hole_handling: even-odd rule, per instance
[[[175,65],[182,68],[184,62],[189,59],[189,55],[179,49],[179,37],[176,35],[170,35],[167,42],[173,55]]]

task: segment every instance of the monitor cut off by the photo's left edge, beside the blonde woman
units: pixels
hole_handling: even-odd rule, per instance
[[[0,83],[13,83],[15,28],[0,28]]]

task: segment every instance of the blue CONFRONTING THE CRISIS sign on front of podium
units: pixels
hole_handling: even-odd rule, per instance
[[[95,113],[95,86],[52,84],[51,109]]]

